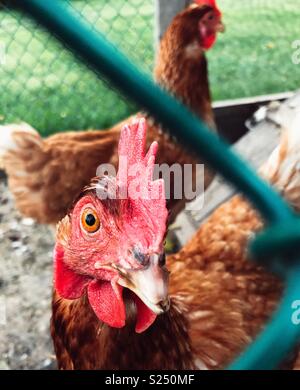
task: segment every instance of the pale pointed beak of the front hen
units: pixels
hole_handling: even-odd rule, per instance
[[[118,284],[133,291],[155,314],[169,310],[169,272],[159,264],[160,255],[153,254],[149,263],[139,270],[120,270]]]

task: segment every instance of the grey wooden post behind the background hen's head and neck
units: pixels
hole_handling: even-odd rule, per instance
[[[178,12],[193,0],[155,0],[155,44],[157,45]]]

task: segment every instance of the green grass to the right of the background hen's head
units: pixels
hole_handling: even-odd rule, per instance
[[[300,0],[219,0],[226,34],[208,53],[215,100],[300,88],[292,42],[300,39]]]

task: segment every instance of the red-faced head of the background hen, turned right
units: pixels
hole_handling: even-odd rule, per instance
[[[195,42],[204,50],[210,49],[218,32],[224,32],[222,13],[215,0],[195,0],[195,3],[177,15],[170,26],[178,44],[185,47]]]

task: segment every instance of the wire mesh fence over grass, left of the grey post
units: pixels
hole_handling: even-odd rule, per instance
[[[151,1],[70,3],[94,29],[103,31],[145,71],[151,71]],[[136,12],[139,7],[142,11]],[[66,129],[105,128],[135,110],[22,14],[3,8],[0,26],[5,50],[0,80],[2,122],[25,121],[47,135]]]

